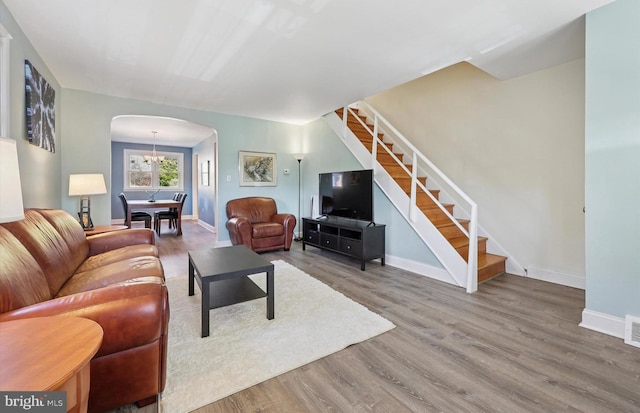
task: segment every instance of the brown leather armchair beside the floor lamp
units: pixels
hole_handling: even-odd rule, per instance
[[[291,248],[296,217],[278,214],[272,198],[233,199],[227,202],[227,218],[233,245],[244,244],[256,252]]]

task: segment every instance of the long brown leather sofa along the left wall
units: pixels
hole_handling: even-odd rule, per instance
[[[143,228],[86,237],[61,210],[27,209],[0,224],[0,322],[79,316],[104,331],[90,412],[148,404],[164,389],[169,301],[154,244]]]

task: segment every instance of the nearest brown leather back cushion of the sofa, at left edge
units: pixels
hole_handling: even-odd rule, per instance
[[[3,226],[0,226],[0,244],[0,313],[51,299],[40,266]]]

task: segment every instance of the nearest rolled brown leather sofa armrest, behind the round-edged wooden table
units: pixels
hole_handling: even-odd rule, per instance
[[[162,279],[137,278],[2,313],[0,322],[49,316],[84,317],[100,324],[104,336],[95,357],[101,357],[167,335],[169,295]]]

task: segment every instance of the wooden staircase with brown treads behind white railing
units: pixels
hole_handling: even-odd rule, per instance
[[[342,120],[343,125],[364,145],[368,154],[372,157],[372,166],[375,165],[383,168],[401,191],[404,192],[406,197],[409,198],[410,209],[412,211],[408,214],[409,217],[413,215],[413,211],[416,209],[419,210],[446,240],[450,246],[449,248],[455,250],[459,257],[469,266],[467,270],[470,271],[470,276],[471,273],[475,272],[475,279],[467,280],[467,291],[473,292],[477,289],[478,283],[504,273],[507,257],[487,252],[488,238],[475,235],[477,234],[477,230],[475,230],[477,223],[474,223],[474,231],[470,231],[469,219],[454,218],[454,204],[441,202],[441,190],[433,189],[436,185],[431,185],[431,189],[429,189],[427,187],[428,178],[426,174],[420,170],[420,167],[414,167],[414,165],[420,165],[419,161],[421,158],[425,160],[426,158],[424,158],[422,154],[415,153],[412,156],[407,156],[406,153],[411,152],[413,146],[410,143],[406,143],[405,145],[398,143],[397,137],[394,139],[394,137],[391,136],[394,135],[393,133],[389,134],[389,136],[387,136],[387,131],[383,133],[382,128],[378,124],[379,118],[381,117],[377,112],[372,116],[374,123],[369,122],[368,119],[370,119],[370,116],[367,116],[367,112],[371,113],[372,111],[375,112],[370,107],[367,107],[366,112],[358,108],[341,108],[336,110],[335,113]],[[399,132],[390,127],[390,125],[388,129],[395,132],[395,135],[399,135]],[[346,129],[344,132],[347,132]],[[374,140],[374,136],[376,136],[377,139]],[[400,138],[404,139],[401,135]],[[402,147],[404,146],[406,148],[407,145],[410,147],[410,150],[402,150]],[[417,150],[414,152],[417,152]],[[407,160],[409,162],[407,162]],[[473,205],[473,208],[477,208],[472,201],[469,202]],[[477,220],[477,211],[471,215],[475,215]],[[415,218],[412,220],[415,220]],[[423,237],[423,239],[424,238],[425,237]],[[470,243],[470,239],[477,239],[477,243]],[[428,239],[425,240],[425,242],[427,245],[430,245]],[[473,250],[477,251],[477,253],[474,254],[477,257],[475,260],[473,256],[470,255],[470,251]],[[441,257],[439,257],[439,259],[443,261]],[[474,269],[475,271],[473,271]]]

